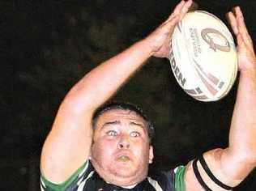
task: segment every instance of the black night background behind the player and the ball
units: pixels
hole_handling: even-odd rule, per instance
[[[174,0],[0,1],[0,190],[39,190],[41,147],[63,97],[89,70],[142,39]],[[255,1],[197,1],[225,23],[240,5],[255,42]],[[169,61],[151,58],[114,100],[139,104],[156,126],[154,169],[227,146],[237,82],[223,100],[187,96]],[[234,190],[256,190],[255,171]]]

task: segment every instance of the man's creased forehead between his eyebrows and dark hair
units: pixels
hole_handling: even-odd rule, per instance
[[[147,124],[147,121],[145,121],[143,117],[140,117],[136,112],[119,108],[102,113],[96,120],[96,125],[104,124],[108,121],[136,121],[144,126]]]

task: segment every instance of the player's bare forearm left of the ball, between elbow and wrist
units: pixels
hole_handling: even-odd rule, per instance
[[[147,41],[139,41],[86,74],[70,90],[66,100],[82,110],[96,109],[113,96],[151,54]]]

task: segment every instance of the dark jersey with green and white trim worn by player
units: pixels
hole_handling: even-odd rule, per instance
[[[133,188],[123,188],[108,184],[103,180],[87,160],[68,180],[56,185],[41,174],[41,191],[185,191],[185,167],[179,166],[169,172],[159,172],[147,176]]]

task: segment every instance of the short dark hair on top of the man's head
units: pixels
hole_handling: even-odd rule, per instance
[[[103,104],[100,106],[100,108],[96,109],[96,112],[94,112],[92,117],[92,128],[95,128],[97,119],[105,112],[108,112],[113,109],[121,109],[121,110],[128,110],[131,112],[135,112],[139,117],[143,117],[143,120],[147,122],[147,134],[149,137],[150,142],[152,142],[152,139],[155,136],[155,129],[154,125],[151,123],[151,121],[148,120],[146,114],[143,112],[142,108],[139,108],[138,106],[130,103],[124,103],[124,102],[108,102],[106,104]]]

